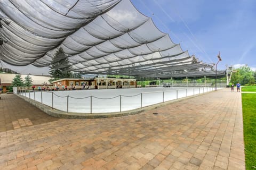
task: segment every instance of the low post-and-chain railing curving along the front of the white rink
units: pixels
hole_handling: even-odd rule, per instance
[[[215,90],[214,87],[186,88],[141,92],[140,94],[131,96],[117,95],[111,98],[100,98],[95,96],[78,98],[62,95],[62,91],[58,93],[58,91],[32,91],[25,89],[17,89],[17,94],[63,112],[110,113],[129,111],[183,97],[203,94],[213,90]],[[81,94],[82,91],[79,91],[79,93]]]

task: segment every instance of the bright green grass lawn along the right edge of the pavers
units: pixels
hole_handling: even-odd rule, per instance
[[[244,91],[244,88],[242,88]],[[254,88],[245,88],[248,91]],[[250,90],[251,89],[251,90]],[[256,94],[242,94],[246,169],[256,169]]]

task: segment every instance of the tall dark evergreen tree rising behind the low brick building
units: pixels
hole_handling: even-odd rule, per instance
[[[51,62],[51,70],[49,74],[51,74],[53,78],[51,80],[70,78],[71,72],[69,61],[62,48],[59,48],[55,53]]]

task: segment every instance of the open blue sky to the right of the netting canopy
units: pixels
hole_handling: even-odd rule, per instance
[[[205,63],[256,69],[256,1],[131,0],[174,43]]]

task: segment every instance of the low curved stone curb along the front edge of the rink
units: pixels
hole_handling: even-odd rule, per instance
[[[214,91],[210,91],[210,92],[214,92]],[[209,93],[209,92],[207,92],[207,93]],[[175,100],[165,101],[164,103],[158,103],[158,104],[154,104],[154,105],[150,105],[150,106],[145,106],[142,108],[132,109],[130,111],[113,112],[113,113],[92,113],[92,114],[91,113],[74,113],[74,112],[59,111],[57,109],[52,109],[52,107],[50,107],[50,106],[41,104],[38,101],[27,98],[25,96],[21,96],[21,95],[17,95],[17,94],[15,94],[15,95],[24,99],[28,103],[34,105],[35,107],[41,109],[41,111],[43,111],[46,114],[51,115],[53,117],[67,118],[67,119],[89,119],[89,118],[93,119],[93,118],[110,118],[110,117],[119,117],[119,116],[128,116],[128,115],[139,114],[144,111],[150,111],[150,110],[156,109],[158,107],[169,105],[171,103],[186,100],[186,99],[193,98],[196,96],[201,96],[201,95],[204,95],[207,93],[202,93],[202,94],[197,94],[194,96],[188,96],[188,97],[178,98]]]

